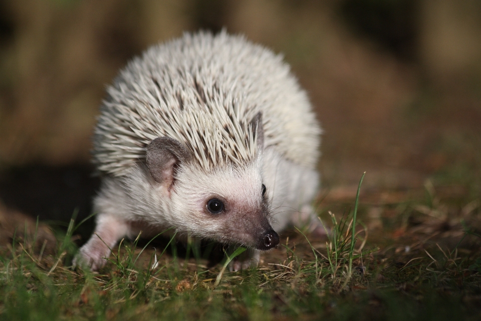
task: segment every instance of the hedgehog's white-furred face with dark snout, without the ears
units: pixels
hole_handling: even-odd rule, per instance
[[[261,157],[209,173],[181,167],[171,189],[172,217],[182,230],[222,243],[268,250],[279,244],[270,224]]]

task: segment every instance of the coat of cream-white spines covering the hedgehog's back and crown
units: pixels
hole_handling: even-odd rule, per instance
[[[154,46],[131,61],[107,92],[93,156],[98,169],[113,176],[127,174],[145,158],[149,142],[162,136],[179,140],[204,170],[252,162],[259,112],[265,147],[309,167],[318,156],[320,130],[307,95],[282,57],[244,37],[185,34]],[[291,117],[282,108],[289,104],[310,117]],[[299,152],[304,148],[311,152]]]

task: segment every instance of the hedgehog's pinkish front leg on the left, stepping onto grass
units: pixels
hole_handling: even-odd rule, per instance
[[[99,214],[94,234],[82,246],[73,265],[90,267],[92,271],[98,270],[107,263],[105,258],[110,255],[115,243],[128,232],[129,226],[124,221],[112,215]]]

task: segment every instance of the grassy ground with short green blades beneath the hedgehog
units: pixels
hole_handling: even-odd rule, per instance
[[[471,202],[470,213],[445,223],[443,211],[460,201],[432,190],[385,205],[395,215],[381,220],[392,222],[370,239],[358,193],[352,213],[321,213],[331,220],[327,242],[288,232],[259,267],[239,272],[226,267],[242,248],[208,268],[194,242],[180,257],[172,239],[154,250],[139,238],[120,242],[98,273],[73,270],[74,219],[49,253],[24,233],[0,248],[0,319],[479,319],[478,210]]]

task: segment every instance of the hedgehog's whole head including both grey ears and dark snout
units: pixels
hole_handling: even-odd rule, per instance
[[[206,170],[170,137],[155,138],[147,146],[147,167],[168,200],[170,224],[179,232],[259,250],[279,244],[262,180],[261,113],[252,126],[257,128],[257,155],[242,165],[224,163]]]

